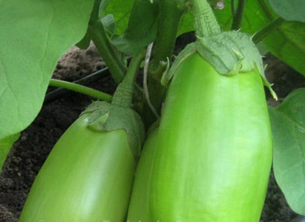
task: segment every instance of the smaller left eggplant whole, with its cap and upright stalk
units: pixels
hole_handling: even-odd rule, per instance
[[[145,51],[135,55],[111,103],[92,102],[64,132],[35,179],[20,222],[124,222],[144,142],[131,109]]]

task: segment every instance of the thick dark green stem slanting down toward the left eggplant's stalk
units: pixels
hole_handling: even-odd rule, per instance
[[[97,19],[91,19],[89,23],[89,32],[98,52],[107,64],[109,71],[115,81],[120,83],[126,72],[126,68],[114,52],[103,24]]]

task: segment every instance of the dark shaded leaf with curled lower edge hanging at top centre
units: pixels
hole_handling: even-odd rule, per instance
[[[111,43],[125,54],[135,55],[155,40],[159,14],[158,2],[135,0],[124,34],[113,35]]]

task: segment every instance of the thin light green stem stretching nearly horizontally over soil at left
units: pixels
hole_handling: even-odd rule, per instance
[[[104,100],[104,101],[112,100],[112,95],[109,95],[109,94],[100,92],[98,90],[94,90],[90,87],[82,86],[82,85],[79,85],[76,83],[71,83],[71,82],[58,80],[58,79],[51,79],[49,85],[55,86],[55,87],[61,87],[64,89],[68,89],[68,90],[77,92],[77,93],[89,95],[93,98],[97,98],[97,99]]]

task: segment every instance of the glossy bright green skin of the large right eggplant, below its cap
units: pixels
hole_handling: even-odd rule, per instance
[[[158,133],[149,221],[259,221],[273,145],[257,71],[220,75],[199,54],[188,57],[169,87]]]

